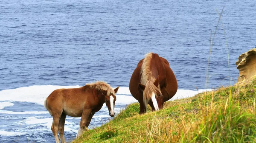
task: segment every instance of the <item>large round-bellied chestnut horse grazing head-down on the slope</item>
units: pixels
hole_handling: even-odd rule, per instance
[[[148,53],[135,68],[129,89],[140,103],[140,114],[149,104],[152,110],[163,108],[163,102],[177,92],[178,84],[169,62],[156,53]]]

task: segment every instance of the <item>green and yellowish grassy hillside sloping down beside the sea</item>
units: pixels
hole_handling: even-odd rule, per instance
[[[130,104],[72,143],[256,143],[256,80],[168,101],[139,115]]]

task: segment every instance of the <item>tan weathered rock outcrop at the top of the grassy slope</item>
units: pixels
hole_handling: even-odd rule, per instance
[[[253,79],[256,76],[256,46],[241,54],[238,61],[236,61],[236,65],[236,68],[239,70],[237,84]]]

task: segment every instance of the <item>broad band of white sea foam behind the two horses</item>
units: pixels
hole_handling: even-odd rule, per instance
[[[33,85],[30,87],[19,87],[16,89],[2,90],[0,91],[0,101],[8,101],[8,102],[1,102],[0,109],[3,109],[4,107],[7,107],[7,106],[13,106],[13,103],[11,103],[10,101],[32,102],[32,103],[44,105],[44,100],[49,96],[50,93],[52,93],[53,90],[60,89],[60,88],[78,88],[78,87],[80,86],[79,85],[76,85],[76,86]],[[209,90],[195,91],[195,90],[178,89],[177,93],[171,100],[192,97],[197,93],[201,93],[204,91],[209,91]],[[134,102],[137,102],[137,100],[131,96],[129,87],[120,87],[118,92],[116,93],[116,104],[122,105],[122,104],[131,104]],[[28,112],[28,114],[37,114],[37,113]]]

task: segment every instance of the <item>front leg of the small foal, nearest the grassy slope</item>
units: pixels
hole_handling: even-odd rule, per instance
[[[81,118],[81,121],[80,121],[80,127],[79,127],[79,130],[76,134],[76,138],[79,137],[80,135],[82,135],[83,131],[84,130],[87,130],[87,120],[88,120],[88,117],[90,116],[92,110],[91,109],[84,109],[83,111],[83,114],[82,114],[82,118]]]

